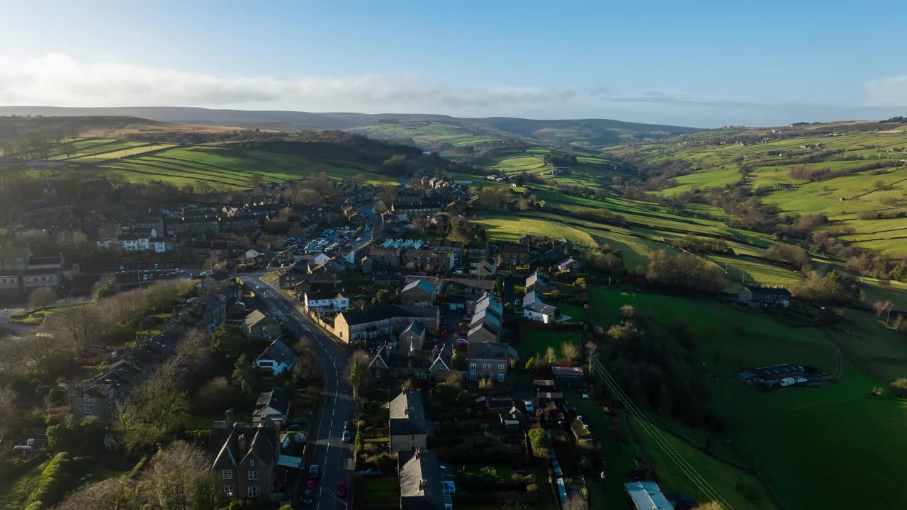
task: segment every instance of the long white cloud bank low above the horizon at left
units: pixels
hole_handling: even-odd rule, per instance
[[[483,110],[570,101],[571,89],[460,87],[415,74],[246,78],[186,73],[65,54],[0,56],[0,104],[59,106],[255,105],[313,111]]]

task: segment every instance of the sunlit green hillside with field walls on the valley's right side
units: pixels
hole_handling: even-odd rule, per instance
[[[822,214],[857,249],[907,256],[907,125],[826,123],[775,129],[707,130],[611,154],[685,170],[655,193],[741,184],[787,214]]]

